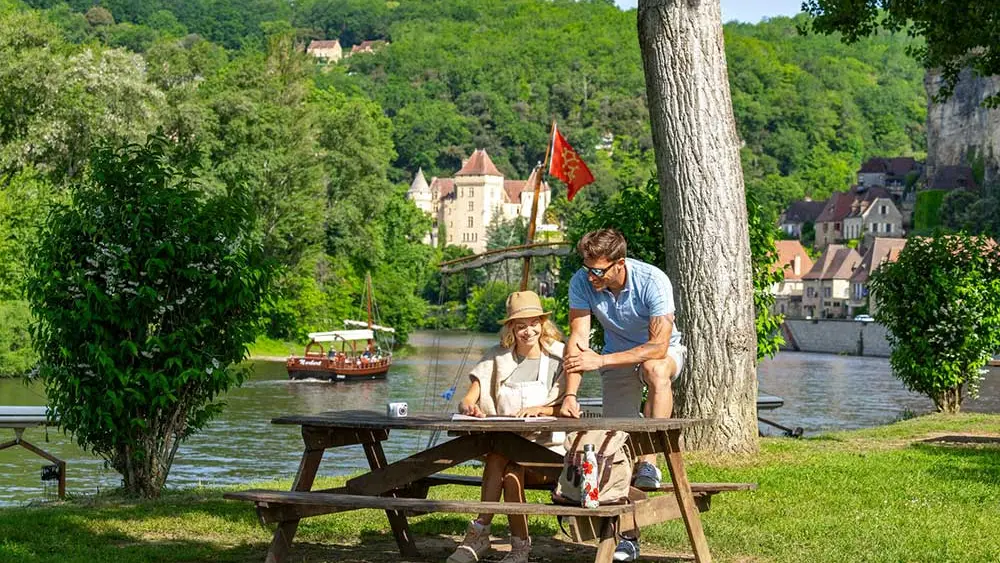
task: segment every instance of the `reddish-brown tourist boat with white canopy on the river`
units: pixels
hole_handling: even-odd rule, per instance
[[[309,333],[309,344],[301,356],[285,361],[289,379],[348,381],[385,377],[392,366],[392,327],[374,323],[371,276],[365,276],[365,305],[368,321],[345,320],[344,330]],[[360,328],[358,328],[360,327]],[[377,333],[390,335],[384,346]],[[359,343],[364,343],[359,346]],[[327,343],[324,348],[323,344]]]

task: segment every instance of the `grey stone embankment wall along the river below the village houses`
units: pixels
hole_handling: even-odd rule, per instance
[[[782,325],[782,350],[889,357],[885,327],[853,320],[787,319]]]

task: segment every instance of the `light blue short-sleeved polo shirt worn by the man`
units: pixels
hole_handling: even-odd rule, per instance
[[[595,291],[587,281],[587,270],[573,274],[569,282],[569,308],[585,309],[604,327],[604,353],[630,350],[649,342],[649,318],[674,313],[674,291],[663,270],[625,259],[625,287],[615,297],[611,290]],[[676,321],[676,319],[675,319]],[[675,325],[670,345],[681,343]]]

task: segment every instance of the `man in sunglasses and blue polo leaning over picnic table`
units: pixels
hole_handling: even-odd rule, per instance
[[[600,370],[604,416],[638,417],[643,385],[648,387],[643,415],[669,418],[671,382],[684,367],[687,349],[674,330],[674,295],[670,280],[651,264],[625,257],[625,237],[615,229],[587,233],[577,244],[583,268],[569,285],[570,336],[563,369],[566,396],[560,414],[580,416],[576,391],[583,372]],[[590,349],[590,319],[604,328],[601,354]],[[658,487],[662,478],[656,455],[636,467],[637,487]],[[615,560],[639,555],[636,540],[623,540]]]

